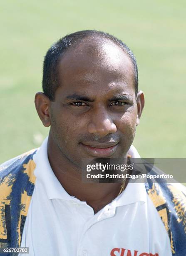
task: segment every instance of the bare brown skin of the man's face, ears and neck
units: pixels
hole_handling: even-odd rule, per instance
[[[72,46],[60,59],[58,75],[54,101],[42,92],[35,96],[37,113],[50,126],[48,158],[69,195],[96,213],[117,197],[121,184],[82,183],[82,158],[126,158],[144,94],[136,98],[131,60],[108,39],[88,37]]]

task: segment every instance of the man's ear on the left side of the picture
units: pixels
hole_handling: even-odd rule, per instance
[[[50,126],[50,99],[43,93],[37,92],[35,95],[35,108],[43,125]]]

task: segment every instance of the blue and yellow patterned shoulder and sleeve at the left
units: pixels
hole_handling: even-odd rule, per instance
[[[0,165],[0,241],[5,247],[19,247],[22,228],[35,187],[37,149]]]

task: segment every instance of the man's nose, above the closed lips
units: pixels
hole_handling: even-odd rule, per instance
[[[88,124],[89,133],[97,133],[100,138],[107,136],[109,133],[115,133],[117,131],[116,125],[108,115],[106,110],[97,110],[91,116],[91,121]]]

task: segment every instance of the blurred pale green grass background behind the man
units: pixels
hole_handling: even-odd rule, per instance
[[[186,1],[1,2],[0,162],[47,136],[34,106],[42,61],[67,33],[97,29],[136,55],[146,105],[134,146],[142,157],[186,157]]]

